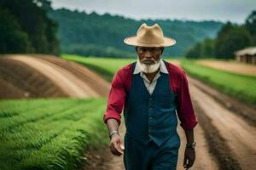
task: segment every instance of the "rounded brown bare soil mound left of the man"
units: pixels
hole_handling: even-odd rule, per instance
[[[0,99],[107,96],[110,83],[73,61],[54,56],[9,54],[1,57]],[[21,71],[22,70],[22,71]]]

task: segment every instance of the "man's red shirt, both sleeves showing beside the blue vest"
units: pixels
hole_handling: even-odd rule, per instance
[[[193,129],[198,123],[189,94],[189,83],[185,71],[182,68],[167,64],[169,80],[172,92],[177,94],[177,116],[184,130]],[[131,88],[132,64],[125,65],[113,77],[112,86],[108,94],[108,105],[103,121],[107,123],[109,118],[116,119],[119,124],[121,112],[125,105],[125,96]]]

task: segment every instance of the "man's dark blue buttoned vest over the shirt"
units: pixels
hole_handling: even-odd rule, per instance
[[[131,89],[125,98],[126,133],[143,144],[153,140],[160,146],[177,134],[177,97],[172,93],[169,75],[162,72],[150,95],[143,77],[133,74],[135,65],[136,62],[132,64]]]

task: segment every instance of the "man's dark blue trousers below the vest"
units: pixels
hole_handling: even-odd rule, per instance
[[[160,147],[153,140],[143,144],[125,133],[126,170],[176,170],[180,138],[175,133]]]

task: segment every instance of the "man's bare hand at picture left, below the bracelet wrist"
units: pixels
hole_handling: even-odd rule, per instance
[[[123,139],[120,138],[119,134],[114,133],[111,136],[109,148],[113,155],[121,156],[124,154],[125,146]]]

